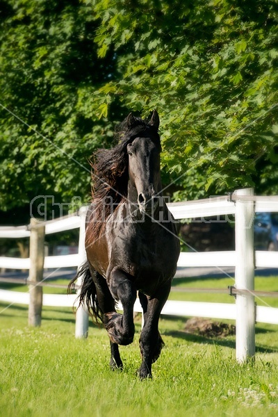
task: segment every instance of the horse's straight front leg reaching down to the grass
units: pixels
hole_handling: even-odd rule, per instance
[[[152,378],[152,363],[158,359],[164,346],[158,332],[158,320],[161,310],[170,293],[170,285],[161,288],[155,297],[140,295],[140,302],[144,312],[144,327],[140,334],[140,351],[142,363],[138,370],[140,379]],[[147,301],[147,302],[146,302]]]

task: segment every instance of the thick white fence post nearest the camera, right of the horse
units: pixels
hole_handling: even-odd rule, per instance
[[[253,188],[236,190],[236,289],[254,291]],[[251,293],[236,295],[236,359],[243,363],[255,354],[255,304]]]

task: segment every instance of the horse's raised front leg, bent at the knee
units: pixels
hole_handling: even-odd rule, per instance
[[[126,272],[113,270],[109,276],[109,289],[116,300],[122,303],[123,313],[106,313],[106,330],[112,343],[129,345],[133,342],[135,327],[133,305],[136,300],[136,288]]]

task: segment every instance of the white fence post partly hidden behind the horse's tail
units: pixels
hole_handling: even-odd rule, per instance
[[[86,250],[85,250],[85,219],[88,208],[83,206],[79,210],[79,215],[81,218],[80,229],[79,229],[79,265],[78,268],[83,265],[87,260]],[[79,277],[76,284],[81,286],[82,278]],[[79,290],[80,291],[80,290]],[[79,294],[79,291],[77,294]],[[88,336],[89,329],[89,316],[86,306],[80,306],[76,311],[76,322],[75,322],[75,337],[76,338],[86,338]]]

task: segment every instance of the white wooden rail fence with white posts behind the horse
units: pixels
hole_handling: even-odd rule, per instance
[[[254,268],[278,268],[277,252],[254,252],[253,220],[255,212],[278,212],[278,197],[253,195],[251,188],[237,190],[233,195],[213,197],[195,202],[169,204],[174,218],[205,218],[218,215],[235,215],[236,250],[221,252],[182,252],[179,267],[227,267],[235,266],[235,304],[208,302],[178,302],[168,300],[162,314],[171,316],[199,316],[236,320],[236,357],[245,361],[254,355],[255,322],[278,324],[278,309],[255,306]],[[45,234],[53,234],[80,227],[79,254],[46,256],[44,268],[79,267],[85,260],[85,211],[62,220],[45,222]],[[20,238],[30,236],[26,227],[0,227],[0,238]],[[30,259],[16,259],[1,256],[0,268],[28,269]],[[242,291],[240,293],[240,291]],[[73,306],[76,295],[43,295],[44,306]],[[28,293],[0,290],[0,301],[28,304]],[[136,300],[134,311],[142,311]],[[76,337],[88,333],[88,314],[79,309],[76,315]]]

